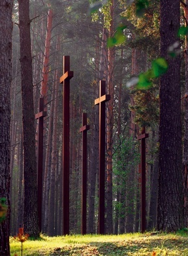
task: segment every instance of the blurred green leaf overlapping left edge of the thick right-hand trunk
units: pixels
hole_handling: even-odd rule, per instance
[[[158,58],[152,62],[152,70],[154,77],[160,77],[166,73],[168,69],[168,64],[164,58]]]

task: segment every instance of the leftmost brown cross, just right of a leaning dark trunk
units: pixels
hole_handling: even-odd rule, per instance
[[[42,230],[42,168],[43,168],[43,129],[44,129],[44,98],[39,98],[39,113],[35,115],[35,119],[39,119],[38,128],[38,149],[37,149],[37,173],[38,173],[38,216],[39,230]]]

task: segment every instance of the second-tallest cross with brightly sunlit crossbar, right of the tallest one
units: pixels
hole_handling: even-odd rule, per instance
[[[99,98],[99,234],[104,234],[104,191],[105,191],[105,102],[110,100],[106,94],[106,81],[100,81]]]

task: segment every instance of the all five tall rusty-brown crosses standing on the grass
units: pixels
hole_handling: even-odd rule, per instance
[[[62,234],[69,234],[69,145],[70,145],[70,79],[73,77],[70,71],[70,56],[63,56],[63,76],[60,83],[63,84],[63,227]],[[106,81],[100,81],[99,98],[95,105],[99,105],[99,227],[98,233],[104,234],[104,198],[105,198],[105,102],[110,100],[106,94]],[[39,113],[35,119],[39,119],[39,136],[37,147],[37,168],[38,168],[38,215],[39,229],[42,230],[42,156],[43,156],[43,122],[46,117],[44,111],[44,98],[39,98]],[[87,217],[87,114],[82,114],[82,226],[81,233],[86,234]],[[146,230],[146,142],[148,134],[142,130],[138,136],[141,140],[141,232]]]

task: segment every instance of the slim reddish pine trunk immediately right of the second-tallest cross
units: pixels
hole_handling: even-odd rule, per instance
[[[114,0],[111,0],[110,17],[112,18],[109,37],[114,35]],[[113,151],[113,126],[114,126],[114,59],[115,48],[108,48],[108,94],[110,100],[108,101],[107,109],[107,160],[106,160],[106,233],[113,234],[113,215],[112,215],[112,151]]]

